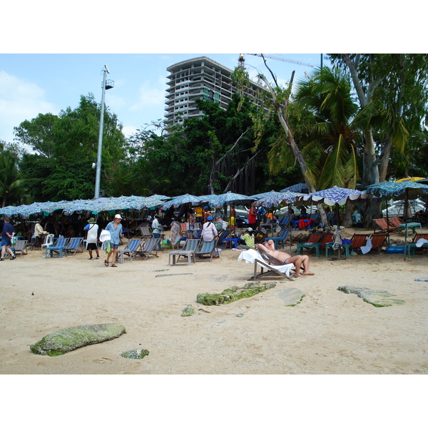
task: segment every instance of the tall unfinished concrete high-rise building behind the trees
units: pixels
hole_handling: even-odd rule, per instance
[[[183,123],[184,118],[202,118],[203,112],[195,103],[198,98],[214,101],[226,109],[232,94],[237,92],[233,71],[206,56],[173,64],[167,71],[170,73],[165,101],[168,125]],[[258,103],[258,92],[263,89],[251,81],[247,95]]]

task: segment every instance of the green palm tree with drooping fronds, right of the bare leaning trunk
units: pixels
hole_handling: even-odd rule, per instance
[[[313,116],[303,153],[318,153],[316,161],[308,163],[317,188],[355,188],[360,133],[354,122],[358,106],[351,96],[349,76],[337,68],[318,69],[300,81],[295,100]]]

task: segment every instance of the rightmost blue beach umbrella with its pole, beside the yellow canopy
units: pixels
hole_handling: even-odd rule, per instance
[[[404,199],[404,223],[407,223],[407,204],[409,199],[416,199],[422,195],[428,195],[428,185],[417,181],[404,180],[398,183],[382,181],[368,185],[367,193],[372,193],[379,198],[387,197],[394,199]],[[389,236],[389,234],[388,234]],[[404,260],[406,260],[407,233],[404,234]]]

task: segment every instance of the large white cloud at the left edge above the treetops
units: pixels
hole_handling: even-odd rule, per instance
[[[14,126],[39,113],[58,113],[54,105],[46,101],[44,90],[36,83],[0,71],[0,140],[11,143]]]

